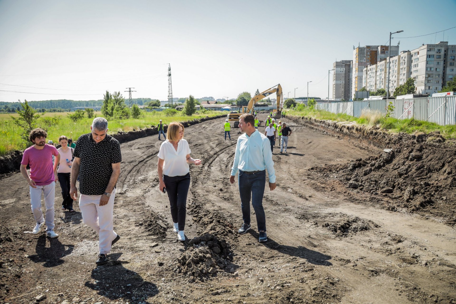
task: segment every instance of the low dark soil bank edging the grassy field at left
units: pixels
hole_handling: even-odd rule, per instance
[[[193,119],[189,120],[186,122],[181,122],[181,124],[184,125],[184,127],[192,126],[194,124],[199,124],[207,120],[212,120],[212,119],[218,119],[221,117],[225,117],[225,115],[219,115],[219,116],[214,116],[214,117],[205,117],[202,119]],[[167,125],[163,126],[164,131],[168,129]],[[151,135],[156,135],[158,134],[158,129],[156,127],[154,128],[145,128],[145,129],[139,129],[139,130],[134,130],[130,132],[119,132],[117,134],[113,134],[112,137],[115,139],[119,140],[120,144],[126,143],[127,141],[151,136]],[[19,170],[21,166],[21,160],[22,160],[22,153],[24,151],[19,151],[16,150],[9,155],[0,157],[0,174],[7,174],[10,172],[14,172]]]

